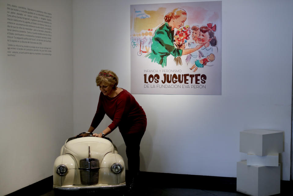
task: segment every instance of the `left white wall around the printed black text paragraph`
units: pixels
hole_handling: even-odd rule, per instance
[[[52,13],[52,56],[7,56],[7,3]],[[73,135],[72,1],[0,1],[0,195],[53,175]]]

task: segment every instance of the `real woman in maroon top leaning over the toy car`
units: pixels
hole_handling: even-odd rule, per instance
[[[96,78],[96,83],[100,87],[101,93],[97,112],[88,132],[93,132],[97,128],[105,114],[112,120],[112,123],[101,133],[95,133],[93,136],[103,138],[116,127],[119,128],[126,145],[128,172],[130,173],[128,179],[131,179],[130,183],[127,183],[127,187],[128,191],[132,191],[139,173],[139,145],[147,125],[145,111],[134,96],[125,89],[117,87],[118,77],[114,72],[101,70]]]

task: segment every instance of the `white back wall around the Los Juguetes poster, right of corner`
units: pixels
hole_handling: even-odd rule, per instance
[[[130,91],[130,5],[167,2],[178,0],[73,1],[75,134],[90,126],[101,69],[116,72],[119,87]],[[221,96],[134,95],[148,118],[142,171],[236,177],[236,162],[245,159],[239,132],[260,128],[284,131],[280,163],[289,180],[292,6],[291,0],[222,1]],[[105,118],[96,132],[110,122]],[[118,129],[110,137],[126,158]]]

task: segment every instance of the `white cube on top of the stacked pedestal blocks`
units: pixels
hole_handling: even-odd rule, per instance
[[[265,129],[240,131],[240,152],[267,156],[283,152],[283,132]]]

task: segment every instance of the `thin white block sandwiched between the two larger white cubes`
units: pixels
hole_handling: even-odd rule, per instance
[[[247,154],[247,165],[252,166],[279,166],[279,154],[258,156]]]

